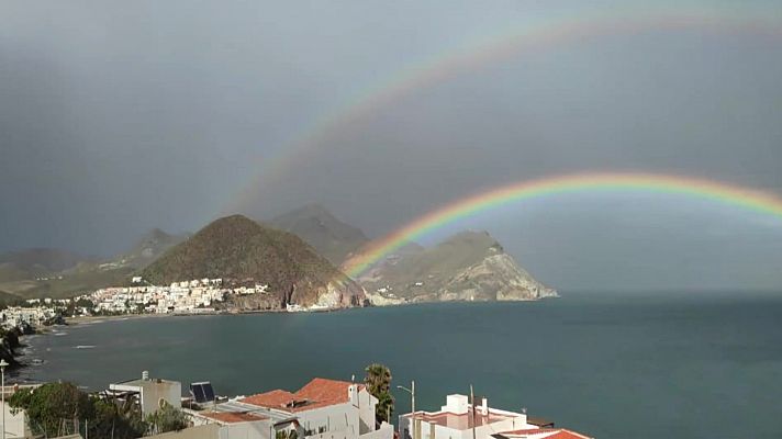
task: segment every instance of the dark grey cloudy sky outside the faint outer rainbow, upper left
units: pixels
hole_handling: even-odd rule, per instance
[[[454,30],[491,25],[442,11],[3,2],[0,249],[105,254],[149,227],[199,227],[319,113],[458,43]]]

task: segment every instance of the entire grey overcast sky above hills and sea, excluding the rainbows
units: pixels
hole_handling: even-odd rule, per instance
[[[111,255],[152,227],[310,202],[379,236],[481,190],[577,171],[697,176],[782,196],[782,3],[736,3],[735,14],[719,2],[611,3],[3,1],[0,251]],[[757,15],[775,33],[566,38],[413,89],[304,154],[291,146],[396,71],[619,5],[628,20]],[[425,244],[461,228],[488,229],[563,290],[782,289],[782,219],[703,201],[537,200]]]

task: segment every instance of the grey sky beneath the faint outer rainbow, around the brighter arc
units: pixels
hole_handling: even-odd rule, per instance
[[[284,210],[319,200],[381,234],[495,185],[612,169],[779,193],[779,41],[755,35],[652,32],[489,66],[420,90],[329,139],[283,180],[283,198],[271,188],[256,209],[262,214],[275,201]],[[751,215],[744,221],[762,237],[735,222],[715,236],[693,226],[692,216],[653,215],[664,205],[637,207],[632,224],[623,224],[626,212],[600,200],[591,209],[603,217],[573,206],[557,211],[567,226],[501,228],[501,215],[470,225],[496,233],[535,273],[566,289],[771,289],[782,281],[774,268],[782,230],[757,225]],[[703,210],[695,217],[715,216],[714,228],[725,214]]]

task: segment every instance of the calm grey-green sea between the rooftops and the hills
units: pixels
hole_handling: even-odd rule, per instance
[[[22,378],[100,390],[149,370],[236,395],[313,376],[360,380],[379,361],[395,384],[416,381],[424,409],[472,383],[491,406],[527,407],[600,438],[782,438],[782,294],[570,294],[62,333],[27,339],[27,358],[45,363]],[[406,394],[396,401],[409,409]]]

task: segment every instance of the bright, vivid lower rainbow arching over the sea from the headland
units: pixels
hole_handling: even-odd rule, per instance
[[[493,207],[573,192],[652,192],[703,200],[773,215],[782,219],[782,199],[774,194],[711,180],[655,173],[581,173],[521,181],[457,200],[432,211],[391,233],[362,254],[348,260],[343,271],[358,277],[399,249],[447,224]]]

